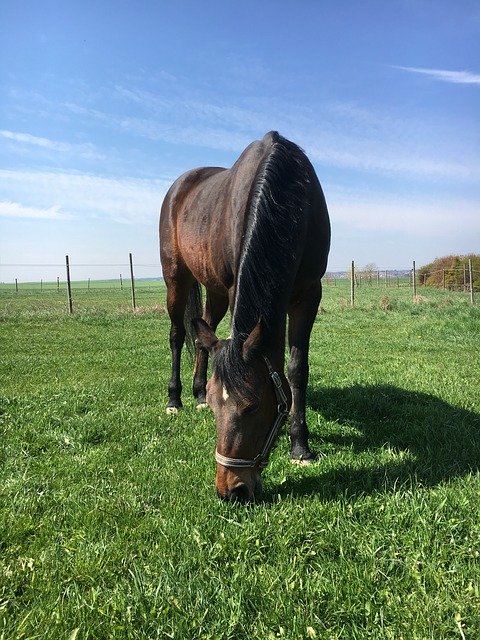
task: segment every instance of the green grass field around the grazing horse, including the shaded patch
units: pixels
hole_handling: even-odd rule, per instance
[[[75,289],[74,289],[75,293]],[[480,307],[325,287],[311,467],[219,502],[165,291],[0,295],[0,639],[480,637]],[[226,334],[226,323],[221,332]]]

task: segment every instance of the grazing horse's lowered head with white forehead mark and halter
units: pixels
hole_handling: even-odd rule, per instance
[[[207,402],[217,426],[217,494],[250,502],[262,491],[261,472],[290,408],[290,388],[283,367],[276,373],[262,353],[261,322],[238,344],[219,340],[203,320],[194,327],[198,346],[213,356]]]

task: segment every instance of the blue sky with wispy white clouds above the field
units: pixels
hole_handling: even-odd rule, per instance
[[[270,130],[329,271],[480,252],[480,3],[1,0],[0,282],[159,276],[170,184]]]

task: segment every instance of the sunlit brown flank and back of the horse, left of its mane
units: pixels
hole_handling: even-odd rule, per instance
[[[207,289],[227,295],[233,286],[241,238],[267,136],[252,142],[230,169],[204,167],[181,175],[160,214],[165,279],[189,272]]]

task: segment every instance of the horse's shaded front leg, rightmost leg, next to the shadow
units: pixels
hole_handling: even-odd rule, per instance
[[[290,360],[288,380],[292,390],[291,451],[292,462],[307,463],[314,459],[308,446],[305,404],[308,384],[308,349],[310,334],[322,298],[322,284],[315,283],[302,299],[289,308],[288,340]]]

